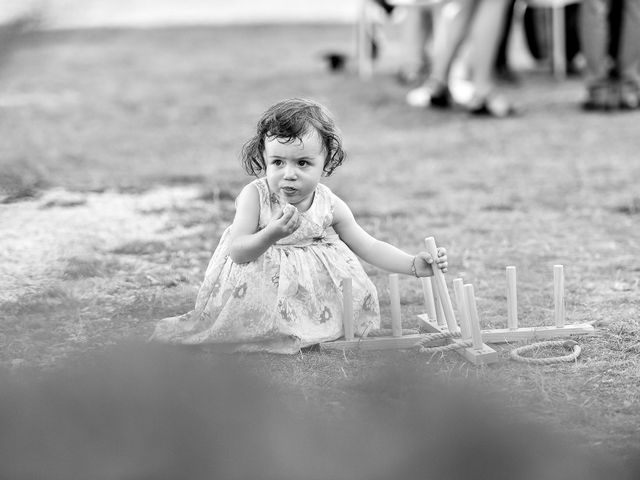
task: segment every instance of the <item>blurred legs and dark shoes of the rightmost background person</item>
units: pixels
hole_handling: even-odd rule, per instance
[[[618,21],[617,12],[621,12]],[[583,107],[638,108],[640,0],[584,0],[580,34],[586,60],[587,96]]]

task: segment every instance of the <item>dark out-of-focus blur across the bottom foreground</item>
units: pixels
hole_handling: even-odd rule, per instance
[[[633,478],[401,365],[358,385],[368,400],[329,418],[229,355],[131,344],[80,364],[3,375],[0,478]]]

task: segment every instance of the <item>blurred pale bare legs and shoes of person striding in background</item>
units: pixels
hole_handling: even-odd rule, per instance
[[[472,114],[504,117],[513,113],[509,101],[496,92],[494,82],[496,56],[510,7],[509,0],[452,0],[437,8],[431,74],[407,94],[407,103],[449,107],[451,68],[465,45],[471,91],[460,103]]]

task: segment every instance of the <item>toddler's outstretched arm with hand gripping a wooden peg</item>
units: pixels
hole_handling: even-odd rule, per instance
[[[444,249],[438,249],[438,258],[433,259],[427,252],[409,255],[399,248],[377,240],[358,225],[351,209],[334,195],[333,228],[340,239],[365,262],[389,272],[430,277],[431,265],[435,261],[442,271],[447,271],[447,257]]]

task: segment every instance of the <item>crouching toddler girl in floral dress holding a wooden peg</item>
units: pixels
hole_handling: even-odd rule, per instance
[[[343,277],[353,282],[356,335],[380,326],[378,296],[356,255],[388,271],[433,274],[434,259],[376,240],[320,183],[345,156],[325,107],[284,100],[267,110],[242,162],[258,177],[236,199],[233,224],[207,267],[195,309],[158,322],[154,340],[295,353],[342,336]],[[444,249],[436,264],[447,269]]]

